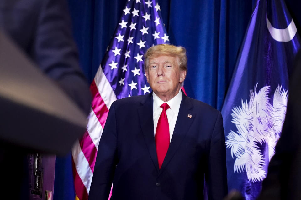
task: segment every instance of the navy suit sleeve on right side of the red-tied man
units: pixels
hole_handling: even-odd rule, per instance
[[[228,192],[226,170],[226,145],[223,118],[218,113],[209,146],[208,170],[205,174],[208,184],[208,199],[223,199]]]

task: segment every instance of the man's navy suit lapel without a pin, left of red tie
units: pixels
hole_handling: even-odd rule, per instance
[[[142,129],[143,137],[150,153],[150,157],[159,172],[159,164],[156,153],[154,118],[153,118],[153,95],[145,95],[145,100],[141,102],[141,106],[137,108]]]

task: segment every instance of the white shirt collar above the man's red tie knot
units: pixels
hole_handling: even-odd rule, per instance
[[[154,108],[153,112],[155,112],[163,103],[167,103],[171,110],[175,113],[175,111],[180,109],[180,104],[182,101],[182,92],[181,89],[177,93],[176,96],[174,96],[172,99],[170,99],[167,102],[164,102],[162,99],[160,99],[154,92],[153,92],[153,99],[154,99]]]

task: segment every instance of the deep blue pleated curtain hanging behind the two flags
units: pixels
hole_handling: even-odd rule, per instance
[[[82,69],[89,83],[128,0],[68,0]],[[141,0],[142,2],[143,0]],[[187,95],[221,109],[256,0],[158,0],[171,44],[187,49]],[[300,30],[301,3],[286,4]],[[54,200],[74,200],[71,155],[57,157]]]

